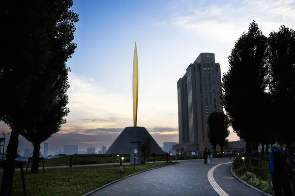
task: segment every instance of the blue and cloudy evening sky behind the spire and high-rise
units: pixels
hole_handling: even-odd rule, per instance
[[[47,141],[49,153],[64,144],[78,144],[79,150],[109,147],[133,125],[135,42],[137,124],[163,146],[178,142],[177,80],[199,53],[215,53],[225,73],[231,49],[252,20],[265,35],[280,25],[295,28],[294,0],[74,0],[72,9],[79,22],[77,49],[67,62],[70,113]],[[4,123],[1,129],[9,131]],[[232,129],[229,140],[238,140]],[[20,137],[20,152],[27,147],[30,143]]]

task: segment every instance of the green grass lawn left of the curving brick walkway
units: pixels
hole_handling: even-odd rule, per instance
[[[144,164],[136,166],[135,172],[173,164],[177,163]],[[25,173],[27,196],[82,196],[93,189],[134,173],[133,166],[130,165],[123,166],[123,170],[123,175],[119,174],[119,166],[48,169],[44,174],[28,172]],[[15,172],[12,195],[23,196],[20,172]]]

